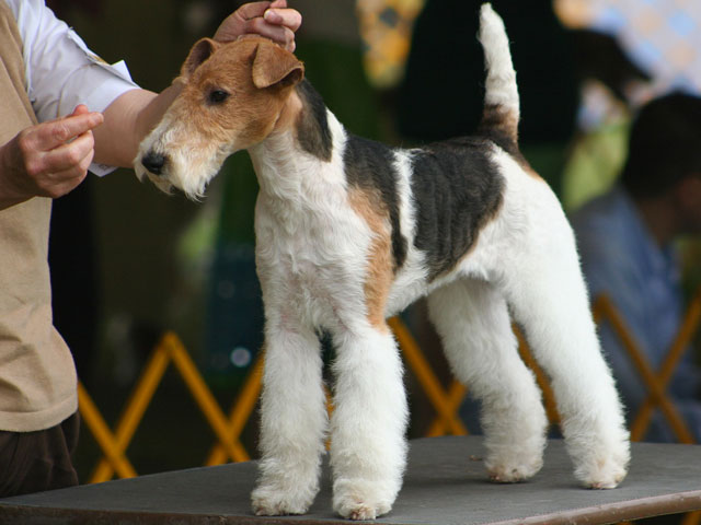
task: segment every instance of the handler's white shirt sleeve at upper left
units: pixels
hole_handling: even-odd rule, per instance
[[[0,0],[1,1],[1,0]],[[124,61],[113,66],[93,54],[44,0],[4,0],[24,44],[27,94],[39,122],[70,115],[77,105],[104,112],[123,93],[137,89]],[[104,175],[113,167],[93,164]]]

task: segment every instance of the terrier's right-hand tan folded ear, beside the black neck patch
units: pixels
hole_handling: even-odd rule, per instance
[[[253,57],[253,84],[291,86],[304,78],[304,65],[291,52],[273,43],[261,43]]]

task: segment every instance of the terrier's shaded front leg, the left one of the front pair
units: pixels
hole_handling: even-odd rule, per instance
[[[303,514],[319,491],[327,427],[321,349],[310,327],[271,322],[261,397],[257,515]]]

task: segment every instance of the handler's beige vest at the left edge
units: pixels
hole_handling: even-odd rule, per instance
[[[33,124],[22,40],[0,0],[0,144]],[[0,430],[47,429],[78,408],[73,360],[51,318],[50,214],[41,197],[0,210]]]

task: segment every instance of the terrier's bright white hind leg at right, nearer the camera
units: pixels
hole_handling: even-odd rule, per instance
[[[504,257],[503,292],[533,357],[551,380],[562,431],[586,487],[612,488],[624,477],[630,444],[621,402],[601,354],[574,237],[555,197],[544,191],[529,232]],[[533,205],[536,206],[536,205]]]

